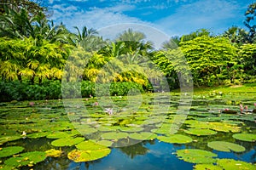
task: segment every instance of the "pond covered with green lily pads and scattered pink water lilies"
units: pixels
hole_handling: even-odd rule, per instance
[[[256,169],[255,96],[1,103],[0,169]]]

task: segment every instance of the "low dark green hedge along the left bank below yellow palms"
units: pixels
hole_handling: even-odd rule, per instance
[[[38,85],[30,84],[29,82],[0,81],[0,101],[60,99],[62,94],[65,98],[90,97],[90,95],[123,96],[127,95],[129,91],[134,88],[144,93],[143,86],[135,82],[112,82],[102,84],[83,81],[81,82],[81,87],[79,87],[79,83],[77,82],[61,84],[60,81],[47,80],[44,81],[43,84]]]

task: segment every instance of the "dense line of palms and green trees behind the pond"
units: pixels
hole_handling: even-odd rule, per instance
[[[201,29],[156,49],[143,32],[128,28],[112,41],[86,26],[71,32],[49,20],[47,8],[18,2],[0,5],[0,101],[61,98],[64,75],[67,82],[82,80],[83,97],[96,94],[97,82],[110,83],[111,95],[125,95],[131,88],[163,90],[154,68],[174,89],[180,86],[182,59],[197,87],[256,82],[256,3],[245,11],[246,29],[231,26],[220,35]]]

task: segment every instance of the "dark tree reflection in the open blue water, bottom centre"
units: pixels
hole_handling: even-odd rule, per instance
[[[133,159],[135,156],[143,156],[148,153],[148,148],[145,147],[145,144],[154,144],[154,140],[143,141],[130,146],[121,147],[119,148],[119,150],[121,150],[127,156],[131,157],[131,159]]]

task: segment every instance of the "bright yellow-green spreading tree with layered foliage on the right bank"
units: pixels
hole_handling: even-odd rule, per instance
[[[232,79],[224,74],[227,67],[236,65],[237,48],[224,37],[196,37],[181,42],[181,49],[191,68],[197,86],[220,84]]]

